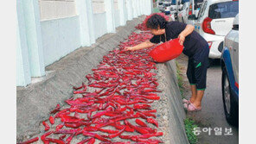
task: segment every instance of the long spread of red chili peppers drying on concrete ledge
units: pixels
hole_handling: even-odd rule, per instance
[[[151,72],[156,69],[148,55],[151,48],[134,52],[124,50],[151,37],[147,31],[132,33],[118,49],[104,56],[93,73],[86,75],[88,84],[74,87],[74,95],[79,97],[67,99],[65,109],[61,110],[58,104],[50,112],[49,121],[42,122],[45,133],[41,141],[68,144],[73,143],[77,135],[84,135],[79,144],[93,144],[96,139],[102,144],[163,143],[157,138],[163,135],[157,132],[157,110],[150,105],[160,99],[156,93],[160,92],[157,91],[157,78],[154,78],[156,73]],[[87,90],[89,87],[93,92]],[[57,119],[61,123],[52,128]],[[113,139],[115,137],[119,139]],[[35,141],[39,141],[39,137],[21,143]]]

